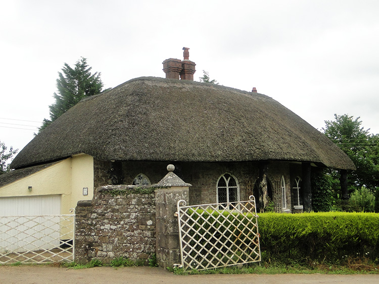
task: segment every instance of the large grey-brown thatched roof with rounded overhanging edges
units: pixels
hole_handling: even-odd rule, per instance
[[[153,77],[83,99],[11,166],[78,153],[100,160],[288,160],[355,169],[333,142],[266,95]]]

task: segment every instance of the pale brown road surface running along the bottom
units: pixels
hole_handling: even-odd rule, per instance
[[[379,283],[379,274],[328,275],[328,274],[242,274],[242,275],[174,275],[161,268],[151,267],[94,267],[89,269],[67,269],[48,266],[0,266],[0,283],[49,283],[49,284],[97,284],[97,283]]]

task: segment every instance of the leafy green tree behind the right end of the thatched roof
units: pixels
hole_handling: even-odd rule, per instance
[[[356,171],[348,173],[349,192],[365,186],[379,186],[379,135],[369,134],[361,127],[359,117],[335,115],[335,121],[325,121],[324,134],[336,143],[354,162]],[[330,173],[337,179],[336,172]]]

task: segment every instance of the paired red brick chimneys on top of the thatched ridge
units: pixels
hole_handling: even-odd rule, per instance
[[[189,60],[189,48],[183,47],[183,50],[184,59],[182,61],[170,58],[163,62],[163,71],[166,73],[167,79],[179,79],[180,76],[181,80],[194,81],[196,64]]]

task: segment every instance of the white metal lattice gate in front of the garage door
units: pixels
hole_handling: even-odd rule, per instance
[[[74,260],[75,214],[0,216],[0,263]]]

